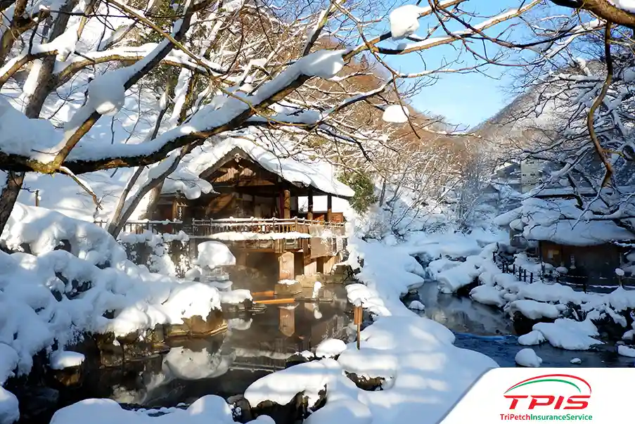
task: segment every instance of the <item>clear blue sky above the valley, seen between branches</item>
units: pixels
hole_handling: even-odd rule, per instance
[[[490,0],[490,1],[474,1],[471,2],[473,8],[483,15],[492,15],[500,11],[504,11],[509,7],[518,6],[519,0]],[[467,7],[466,7],[467,8]],[[475,18],[473,23],[479,22],[480,19]],[[421,20],[421,28],[418,32],[425,34],[425,28],[428,25],[426,20]],[[505,25],[505,24],[502,24]],[[518,30],[517,30],[518,31]],[[490,32],[490,34],[496,34]],[[519,34],[513,34],[517,37]],[[522,32],[520,36],[522,37]],[[491,53],[492,51],[490,51]],[[432,48],[425,51],[422,56],[409,54],[406,56],[387,58],[388,63],[395,68],[404,72],[418,72],[428,68],[432,68],[445,58],[456,58],[454,48],[442,47]],[[462,65],[456,65],[461,68],[470,63],[471,58],[463,55],[466,62]],[[454,67],[453,67],[454,68]],[[510,103],[513,96],[506,91],[509,87],[513,75],[514,68],[500,67],[489,65],[482,68],[487,75],[479,72],[469,72],[465,74],[443,75],[433,85],[425,87],[421,94],[413,98],[412,105],[422,112],[430,112],[444,115],[451,124],[462,124],[466,127],[474,125],[486,120],[496,112],[501,110],[503,106]]]

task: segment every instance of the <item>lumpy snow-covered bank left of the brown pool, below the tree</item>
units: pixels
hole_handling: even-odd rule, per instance
[[[0,252],[0,383],[13,370],[29,373],[42,349],[63,350],[84,333],[122,336],[220,308],[215,288],[152,274],[100,227],[58,212],[16,205],[2,240],[34,255]],[[51,364],[77,364],[70,355],[52,352]]]

